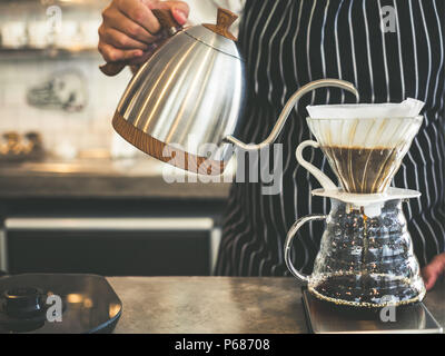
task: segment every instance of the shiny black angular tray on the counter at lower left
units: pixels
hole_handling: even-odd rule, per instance
[[[42,291],[42,312],[29,317],[8,315],[4,291],[23,287]],[[62,300],[61,322],[48,322],[46,317],[46,297],[51,294]],[[121,312],[119,297],[101,276],[23,274],[0,277],[0,333],[111,333]]]

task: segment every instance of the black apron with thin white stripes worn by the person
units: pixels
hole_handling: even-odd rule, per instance
[[[395,9],[395,32],[380,29],[385,6]],[[444,0],[248,0],[239,34],[250,85],[245,141],[266,138],[290,95],[316,79],[355,83],[362,102],[408,97],[426,102],[423,127],[394,179],[394,186],[422,192],[404,207],[421,265],[443,253],[445,243],[444,23]],[[294,155],[299,142],[312,138],[305,107],[340,102],[355,99],[338,89],[319,89],[291,112],[278,139],[284,145],[280,194],[263,195],[260,182],[234,184],[218,275],[287,275],[287,230],[299,217],[329,210],[329,201],[310,196],[319,184]],[[307,151],[307,159],[335,179],[323,154]],[[322,234],[322,222],[301,229],[294,251],[301,271],[312,271]]]

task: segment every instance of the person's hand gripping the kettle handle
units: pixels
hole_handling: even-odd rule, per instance
[[[159,41],[160,24],[151,9],[171,11],[179,24],[185,24],[189,8],[184,1],[112,0],[102,11],[99,27],[99,52],[107,62],[145,62]]]

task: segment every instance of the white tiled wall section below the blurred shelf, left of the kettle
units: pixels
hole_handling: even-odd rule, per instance
[[[67,144],[78,150],[110,149],[111,118],[128,81],[129,70],[109,78],[100,72],[99,55],[79,55],[77,58],[50,59],[20,55],[0,60],[0,134],[7,130],[42,134],[48,150],[57,152]],[[27,102],[27,91],[39,86],[55,72],[78,70],[85,77],[88,105],[80,112],[61,109],[41,109]]]

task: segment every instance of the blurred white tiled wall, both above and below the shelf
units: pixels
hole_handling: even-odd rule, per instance
[[[92,48],[91,52],[70,58],[49,58],[27,50],[11,55],[0,50],[0,135],[9,130],[20,134],[37,130],[43,137],[46,149],[55,154],[66,150],[67,146],[77,151],[111,148],[111,118],[131,72],[126,70],[118,77],[108,78],[98,69],[102,59],[95,50],[97,29],[101,22],[101,10],[108,3],[109,0],[0,1],[0,39],[3,27],[11,21],[23,26],[56,21],[53,13],[48,12],[51,6],[56,6],[61,11],[58,18],[61,24],[77,23],[80,32],[83,30],[82,46]],[[32,36],[36,33],[28,33],[29,38]],[[32,41],[27,43],[33,46]],[[81,112],[41,109],[27,103],[29,88],[44,83],[55,72],[69,69],[80,71],[86,78],[89,100]]]

